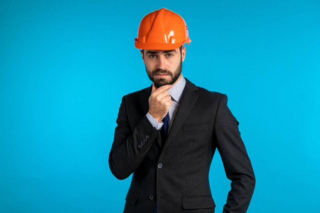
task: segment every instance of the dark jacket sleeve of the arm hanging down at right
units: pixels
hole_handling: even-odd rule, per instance
[[[227,178],[232,181],[223,213],[245,213],[255,189],[255,174],[240,137],[239,123],[228,108],[227,102],[228,97],[223,94],[215,118],[217,148]]]

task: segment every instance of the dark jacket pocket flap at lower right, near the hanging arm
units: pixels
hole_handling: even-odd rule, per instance
[[[183,209],[210,209],[215,207],[215,202],[210,196],[182,197]]]

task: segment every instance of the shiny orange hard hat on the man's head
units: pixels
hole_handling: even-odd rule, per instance
[[[174,50],[184,43],[191,43],[186,22],[165,8],[146,14],[134,38],[134,46],[143,50]]]

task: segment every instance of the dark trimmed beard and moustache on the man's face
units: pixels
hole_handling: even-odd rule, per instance
[[[180,61],[180,64],[176,68],[175,72],[170,72],[169,70],[162,70],[162,69],[156,69],[153,71],[146,69],[146,74],[148,75],[151,82],[154,82],[154,86],[156,88],[159,88],[167,84],[174,84],[176,80],[178,80],[178,78],[180,77],[181,70],[182,70],[182,60]],[[166,80],[166,78],[162,78],[162,77],[156,78],[156,75],[158,74],[168,75],[170,77],[170,80]]]

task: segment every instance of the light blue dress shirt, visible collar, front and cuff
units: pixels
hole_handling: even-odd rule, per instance
[[[185,86],[186,86],[186,79],[181,74],[181,79],[178,82],[176,82],[176,84],[174,84],[174,87],[171,87],[168,90],[172,100],[172,105],[169,108],[169,131],[170,131],[171,124],[174,121],[174,116],[176,116],[176,111],[178,110],[179,102],[181,100],[181,95]],[[158,121],[154,119],[154,117],[151,116],[149,112],[146,114],[146,118],[150,121],[152,126],[154,126],[154,128],[156,128],[157,130],[161,129],[161,127],[164,125],[162,121],[158,123]]]

